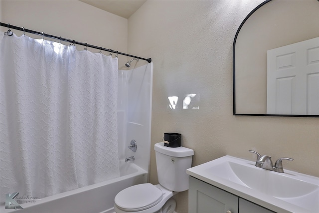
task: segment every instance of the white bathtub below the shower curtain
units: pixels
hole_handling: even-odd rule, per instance
[[[114,213],[114,198],[121,190],[147,182],[147,172],[132,162],[121,162],[120,174],[119,178],[49,196],[36,200],[34,204],[20,204],[23,208],[20,210],[5,209],[1,204],[0,212]]]

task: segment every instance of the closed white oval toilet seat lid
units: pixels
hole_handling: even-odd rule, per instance
[[[137,212],[149,209],[162,200],[162,191],[153,184],[139,184],[119,192],[115,205],[126,212]]]

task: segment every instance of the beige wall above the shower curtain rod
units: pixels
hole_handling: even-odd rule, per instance
[[[128,20],[84,2],[78,0],[0,0],[0,5],[0,20],[3,23],[127,52]],[[0,30],[6,31],[7,28],[1,27]],[[23,33],[18,30],[12,31],[17,35]],[[26,33],[26,35],[41,38],[34,34]],[[83,50],[84,46],[77,45],[77,49]],[[88,50],[99,51],[91,48]],[[103,51],[103,54],[108,55],[109,52]],[[119,68],[126,68],[127,60],[126,56],[120,55]]]

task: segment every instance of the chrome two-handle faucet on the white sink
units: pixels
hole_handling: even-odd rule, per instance
[[[257,160],[256,160],[256,167],[260,167],[266,170],[274,171],[274,172],[284,172],[282,160],[289,160],[293,161],[294,159],[292,158],[280,158],[276,161],[275,166],[273,166],[273,162],[271,161],[271,157],[268,155],[263,155],[261,156],[258,152],[255,152],[253,150],[249,150],[249,152],[255,153],[257,155]]]

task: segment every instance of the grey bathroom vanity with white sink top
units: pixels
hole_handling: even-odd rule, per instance
[[[190,213],[319,212],[319,178],[258,168],[232,156],[186,170]]]

